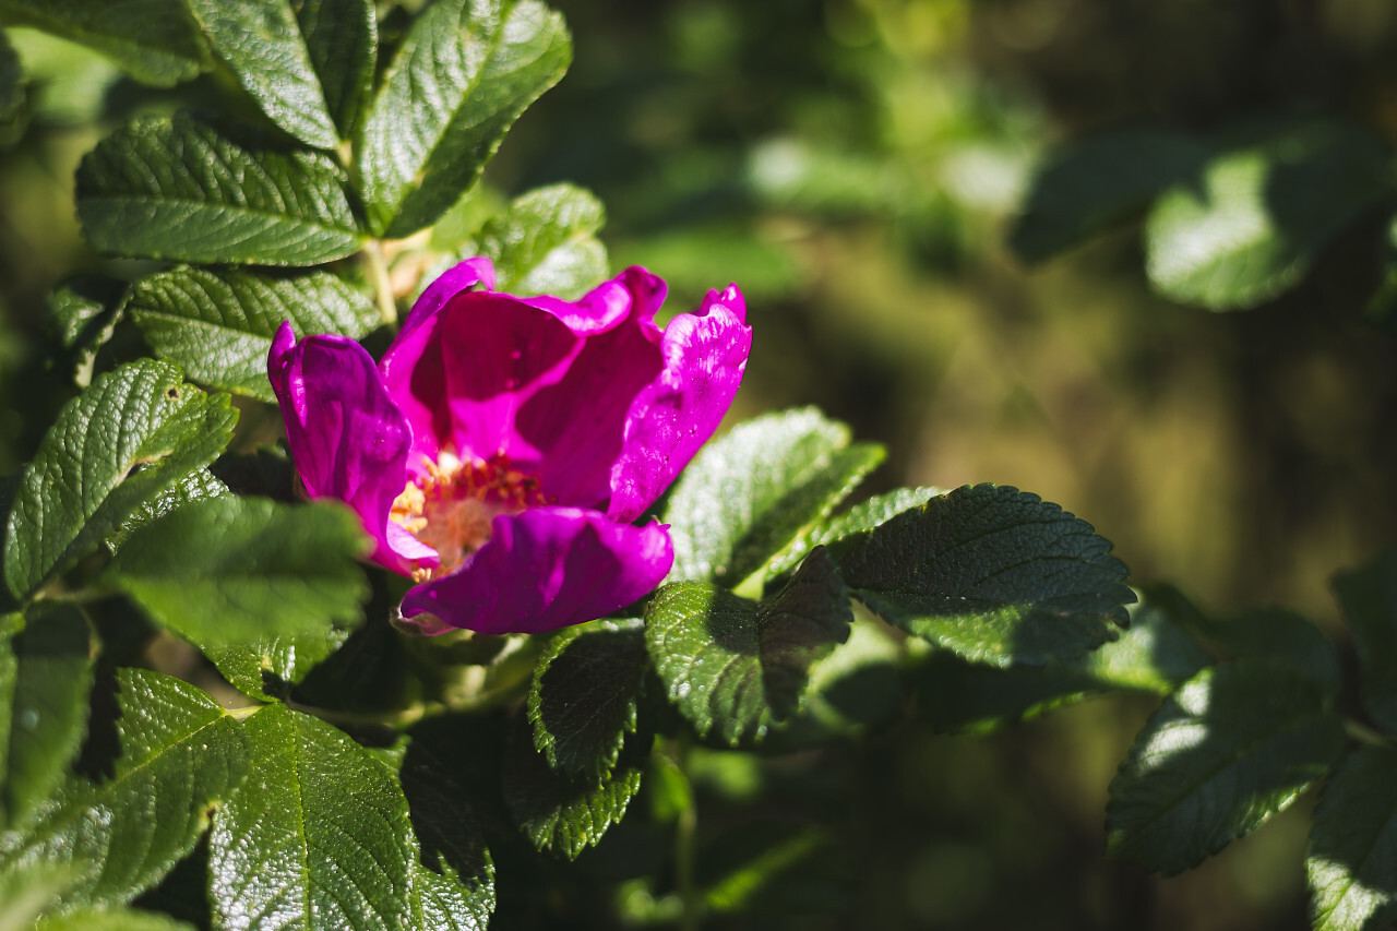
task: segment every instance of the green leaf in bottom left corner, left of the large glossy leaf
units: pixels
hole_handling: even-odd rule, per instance
[[[101,727],[115,727],[119,755],[94,762],[110,776],[70,779],[34,826],[0,836],[0,872],[92,864],[75,874],[66,909],[120,904],[152,886],[246,773],[239,728],[208,695],[145,670],[119,670],[116,685],[115,723]]]

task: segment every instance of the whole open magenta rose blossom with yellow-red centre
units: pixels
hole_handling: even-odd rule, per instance
[[[418,583],[400,611],[423,633],[552,630],[658,586],[669,528],[633,521],[718,426],[752,347],[736,285],[664,330],[644,268],[577,302],[493,288],[489,259],[447,271],[377,366],[289,323],[267,359],[306,493],[349,505],[372,559]]]

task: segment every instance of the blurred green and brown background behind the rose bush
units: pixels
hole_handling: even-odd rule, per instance
[[[591,187],[613,266],[666,277],[672,310],[738,281],[756,344],[735,417],[819,404],[890,445],[876,489],[1017,485],[1091,520],[1137,582],[1220,612],[1284,604],[1341,636],[1327,580],[1393,540],[1397,513],[1393,337],[1365,319],[1380,218],[1299,288],[1227,315],[1151,294],[1139,226],[1032,268],[1004,242],[1035,165],[1099,129],[1217,133],[1302,108],[1397,144],[1390,0],[553,6],[576,63],[472,197]],[[47,291],[130,270],[78,238],[77,159],[170,105],[74,46],[8,36],[27,84],[0,101],[3,472],[70,393]],[[724,885],[757,917],[725,927],[1308,927],[1305,811],[1178,878],[1104,860],[1106,784],[1151,707],[1090,702],[988,738],[909,724],[862,753],[714,755],[694,788],[701,818],[722,814],[700,840],[757,864]],[[745,807],[761,784],[789,786],[780,809]],[[555,881],[622,881],[570,895],[657,914],[615,853],[636,840],[623,823],[585,875]],[[499,856],[495,925],[570,927],[550,904],[566,899],[504,885]]]

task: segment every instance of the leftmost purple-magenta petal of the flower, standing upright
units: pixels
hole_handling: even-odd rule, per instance
[[[365,348],[339,335],[296,342],[284,323],[267,375],[306,493],[349,505],[374,540],[374,562],[398,572],[411,572],[414,559],[434,563],[430,547],[405,531],[390,534],[401,531],[390,527],[388,512],[407,482],[412,431]]]

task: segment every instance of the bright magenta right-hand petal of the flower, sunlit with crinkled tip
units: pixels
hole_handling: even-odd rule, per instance
[[[735,285],[710,294],[703,316],[682,313],[665,329],[665,365],[630,405],[610,471],[606,514],[630,523],[659,498],[707,442],[742,384],[752,349],[746,302]]]

